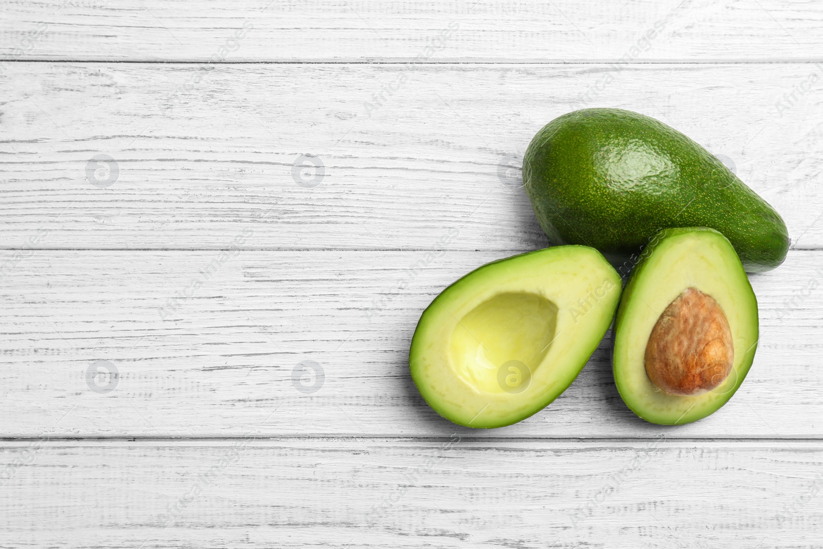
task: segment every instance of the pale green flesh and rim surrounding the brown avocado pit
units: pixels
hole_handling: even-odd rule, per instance
[[[734,355],[722,384],[707,393],[680,396],[651,382],[644,354],[660,314],[688,288],[711,296],[723,309]],[[660,425],[690,423],[716,412],[746,378],[758,338],[757,300],[732,244],[708,228],[655,235],[623,291],[614,334],[615,384],[632,412]]]

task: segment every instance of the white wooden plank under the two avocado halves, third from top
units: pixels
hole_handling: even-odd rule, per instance
[[[14,254],[0,253],[0,264]],[[225,436],[269,416],[266,435],[449,435],[455,426],[412,384],[409,342],[439,291],[505,255],[32,252],[0,290],[0,435]],[[820,438],[821,265],[823,252],[795,251],[751,277],[756,360],[732,401],[704,421],[672,429],[634,416],[616,393],[607,337],[546,410],[458,432]]]

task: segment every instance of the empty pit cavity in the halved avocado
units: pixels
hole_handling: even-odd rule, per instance
[[[505,293],[463,316],[449,342],[458,375],[489,393],[522,393],[546,356],[557,305],[541,295]]]

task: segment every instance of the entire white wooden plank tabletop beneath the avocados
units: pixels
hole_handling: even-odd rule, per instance
[[[821,2],[2,12],[0,547],[823,546]],[[607,336],[546,410],[453,426],[416,320],[546,244],[519,155],[596,105],[783,214],[751,373],[653,426]]]

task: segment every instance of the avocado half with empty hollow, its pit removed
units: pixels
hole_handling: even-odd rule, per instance
[[[558,246],[484,265],[423,312],[409,367],[425,402],[467,427],[539,412],[606,333],[621,278],[596,249]]]

